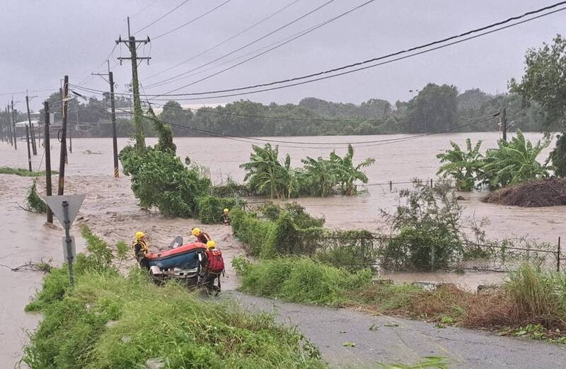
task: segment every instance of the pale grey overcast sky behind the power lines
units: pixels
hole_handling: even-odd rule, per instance
[[[195,69],[228,54],[262,35],[308,13],[328,0],[231,0],[207,16],[163,37],[168,30],[200,16],[226,0],[188,0],[186,4],[138,33],[149,35],[151,45],[140,47],[141,56],[151,56],[149,66],[142,63],[139,77],[142,86]],[[243,54],[254,52],[286,37],[306,30],[366,0],[335,0],[319,11],[280,30],[264,40],[199,69],[200,74],[163,86],[146,88],[146,93],[165,93],[208,76],[241,61]],[[69,75],[71,83],[107,90],[108,83],[89,77],[106,59],[119,35],[127,37],[126,20],[131,16],[132,33],[156,21],[184,0],[3,0],[0,22],[0,107],[14,91],[59,88],[60,79]],[[551,0],[376,0],[333,23],[287,45],[268,52],[229,71],[196,83],[178,92],[198,92],[248,86],[310,74],[342,64],[378,57],[424,42],[462,33],[488,23],[519,15],[552,4]],[[211,52],[149,78],[180,61],[236,35],[279,8],[292,4],[268,21],[248,30]],[[142,9],[145,10],[141,11]],[[140,12],[141,11],[141,12]],[[9,15],[9,16],[8,16]],[[524,54],[529,47],[550,42],[557,33],[565,33],[566,11],[519,25],[460,45],[396,61],[347,76],[331,78],[304,86],[233,98],[213,98],[215,103],[250,99],[260,102],[299,102],[305,97],[359,103],[370,98],[391,102],[408,100],[409,90],[428,82],[454,84],[463,92],[481,88],[488,93],[507,90],[509,78],[520,78]],[[110,65],[117,57],[128,56],[125,46],[117,47]],[[219,64],[224,64],[213,68]],[[99,71],[105,70],[105,64]],[[112,67],[117,91],[125,92],[131,79],[129,62]],[[196,73],[192,72],[193,74]],[[49,92],[38,95],[33,109]],[[14,95],[23,101],[24,95]],[[16,105],[23,109],[23,103]]]

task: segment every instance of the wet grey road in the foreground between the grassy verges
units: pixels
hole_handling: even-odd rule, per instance
[[[426,322],[346,309],[282,303],[236,291],[226,295],[248,310],[275,312],[280,322],[297,325],[320,348],[325,361],[338,368],[376,368],[378,362],[417,363],[424,356],[444,356],[450,368],[558,369],[566,365],[564,346],[541,341],[436,328]],[[345,342],[356,346],[346,347]]]

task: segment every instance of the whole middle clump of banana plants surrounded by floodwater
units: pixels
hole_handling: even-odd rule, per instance
[[[347,196],[357,194],[357,182],[367,183],[368,178],[362,171],[375,163],[374,158],[367,158],[354,165],[354,148],[348,145],[344,158],[333,151],[328,159],[306,157],[301,162],[303,168],[292,168],[291,157],[284,162],[279,160],[279,149],[271,144],[264,147],[252,146],[250,161],[240,165],[246,170],[244,181],[252,194],[267,196],[271,199],[289,199],[300,195],[326,197],[340,193]]]

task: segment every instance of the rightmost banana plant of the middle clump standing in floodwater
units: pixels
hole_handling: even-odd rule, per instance
[[[367,183],[368,178],[366,173],[362,171],[363,168],[367,168],[373,165],[376,160],[374,158],[366,158],[354,167],[354,148],[352,145],[348,145],[348,152],[344,158],[340,158],[333,151],[330,153],[330,160],[332,161],[333,170],[337,178],[338,185],[340,185],[340,192],[346,196],[352,196],[357,194],[357,181],[362,183]]]

